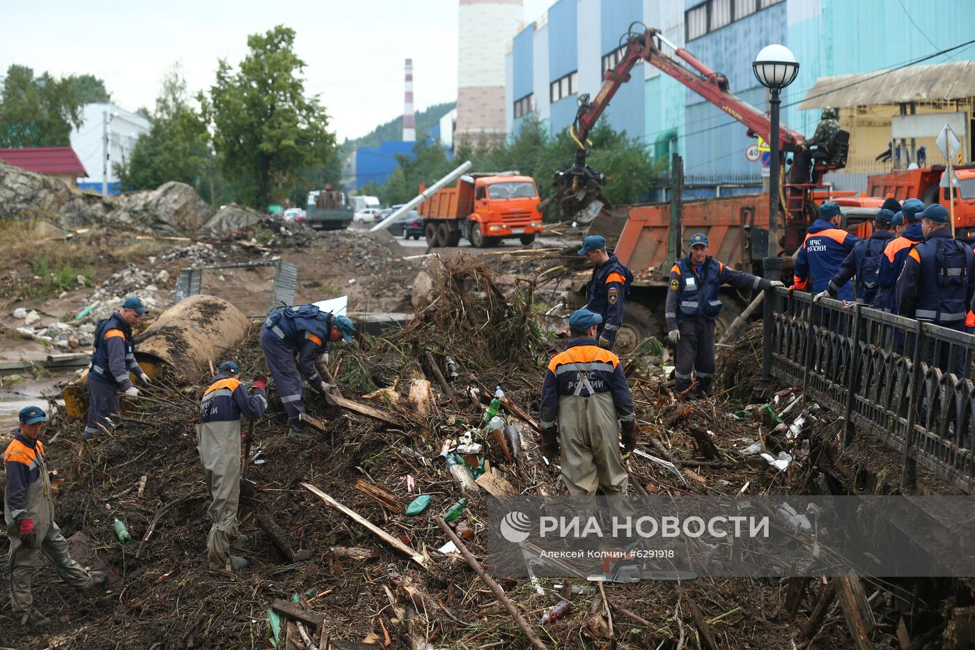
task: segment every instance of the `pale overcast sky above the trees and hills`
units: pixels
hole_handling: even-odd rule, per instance
[[[526,22],[553,1],[524,0]],[[457,0],[3,4],[0,75],[11,63],[56,76],[95,74],[129,110],[153,106],[159,80],[176,61],[191,92],[209,88],[218,59],[236,66],[247,36],[279,23],[297,32],[305,88],[321,94],[340,141],[403,112],[407,58],[417,109],[456,99]]]

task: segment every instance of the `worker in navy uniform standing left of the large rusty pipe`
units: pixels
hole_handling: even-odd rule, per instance
[[[119,414],[119,391],[127,397],[137,397],[138,388],[129,381],[129,373],[142,384],[149,377],[136,362],[136,342],[132,335],[135,325],[149,309],[138,298],[126,299],[122,308],[108,318],[98,321],[92,360],[88,364],[88,423],[85,437],[94,438],[101,430],[111,430],[118,423],[110,418]]]

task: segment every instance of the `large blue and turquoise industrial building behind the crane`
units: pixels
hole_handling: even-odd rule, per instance
[[[509,138],[530,112],[553,133],[566,129],[579,95],[599,93],[603,72],[619,61],[620,38],[634,22],[638,30],[639,23],[660,28],[675,45],[722,72],[735,95],[762,110],[768,107],[767,91],[752,61],[765,45],[790,48],[800,72],[783,92],[782,120],[807,136],[820,110],[800,110],[799,103],[822,77],[915,61],[969,61],[975,53],[969,46],[917,61],[971,39],[971,0],[560,0],[516,35],[507,54]],[[669,48],[665,52],[674,57]],[[967,106],[958,110],[970,120],[970,102]],[[857,108],[840,116],[853,138]],[[889,115],[885,119],[889,124]],[[761,160],[745,156],[756,142],[745,127],[651,64],[634,67],[601,120],[658,157],[680,152],[691,193],[713,196],[718,185],[744,185],[738,191],[761,186]]]

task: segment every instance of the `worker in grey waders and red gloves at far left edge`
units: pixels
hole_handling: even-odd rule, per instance
[[[20,427],[4,454],[7,485],[3,511],[10,539],[10,604],[21,624],[41,630],[50,621],[32,607],[34,598],[30,592],[41,551],[55,565],[59,578],[75,589],[101,587],[108,576],[102,571],[86,571],[71,558],[67,540],[55,522],[51,477],[44,444],[39,439],[47,422],[44,411],[27,406],[20,409],[19,419]]]

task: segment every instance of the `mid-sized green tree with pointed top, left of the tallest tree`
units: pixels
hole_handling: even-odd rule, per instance
[[[139,136],[125,167],[116,164],[115,173],[127,189],[154,189],[169,181],[193,185],[214,201],[213,153],[207,126],[189,103],[186,80],[174,65],[162,81],[149,133]],[[212,171],[210,173],[213,173]]]

